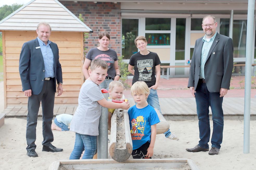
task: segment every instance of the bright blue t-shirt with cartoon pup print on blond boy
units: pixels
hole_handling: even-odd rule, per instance
[[[151,125],[160,122],[155,109],[147,105],[144,108],[137,108],[136,105],[128,110],[130,129],[133,141],[133,150],[138,149],[151,139]]]

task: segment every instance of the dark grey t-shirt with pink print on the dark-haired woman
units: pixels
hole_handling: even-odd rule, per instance
[[[115,50],[109,49],[107,51],[101,51],[97,48],[92,48],[86,54],[86,58],[89,60],[102,59],[108,63],[108,76],[114,80],[116,76],[116,70],[114,68],[114,62],[117,61],[117,54]]]

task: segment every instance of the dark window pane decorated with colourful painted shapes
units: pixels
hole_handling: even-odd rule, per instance
[[[146,33],[148,45],[170,45],[170,35],[168,33]]]

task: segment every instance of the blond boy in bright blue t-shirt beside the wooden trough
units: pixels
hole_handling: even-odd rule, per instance
[[[144,81],[131,87],[136,105],[129,108],[128,115],[133,141],[133,159],[151,159],[154,153],[157,123],[160,122],[155,109],[147,103],[149,88]]]

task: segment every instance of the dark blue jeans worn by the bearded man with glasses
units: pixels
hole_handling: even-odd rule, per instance
[[[196,111],[198,116],[199,126],[199,146],[209,148],[208,142],[210,140],[210,119],[209,106],[213,113],[213,134],[211,137],[211,147],[220,149],[223,138],[223,97],[220,97],[219,92],[210,93],[207,89],[206,83],[199,83],[196,88]]]

